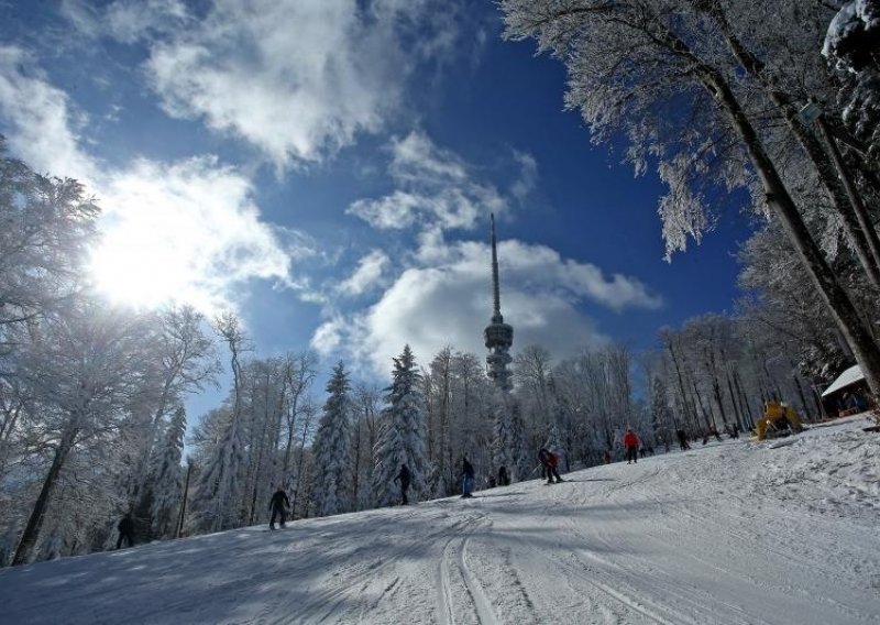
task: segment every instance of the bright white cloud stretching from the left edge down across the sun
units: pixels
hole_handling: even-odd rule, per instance
[[[102,240],[94,274],[109,295],[141,305],[185,300],[211,311],[232,306],[251,278],[305,288],[289,265],[315,253],[314,243],[261,221],[250,180],[216,157],[99,166],[72,130],[76,114],[66,94],[11,46],[0,47],[0,112],[15,156],[76,177],[98,197]]]

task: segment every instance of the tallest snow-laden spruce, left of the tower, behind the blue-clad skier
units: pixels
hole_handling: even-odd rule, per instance
[[[425,452],[425,418],[421,398],[421,374],[409,346],[394,359],[392,385],[388,386],[383,410],[385,427],[376,442],[376,470],[373,492],[376,505],[393,505],[399,501],[400,489],[394,478],[406,464],[413,475],[413,501],[418,501],[427,486],[428,458]]]

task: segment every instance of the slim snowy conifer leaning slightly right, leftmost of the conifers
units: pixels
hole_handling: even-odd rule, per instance
[[[186,410],[178,406],[165,430],[163,442],[153,457],[150,486],[152,489],[151,517],[154,536],[173,536],[180,505],[180,459],[184,453]]]

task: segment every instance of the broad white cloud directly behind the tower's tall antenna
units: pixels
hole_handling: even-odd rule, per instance
[[[482,332],[492,316],[490,248],[476,242],[446,245],[437,239],[431,244],[437,248],[416,256],[430,263],[417,261],[405,268],[366,311],[334,315],[315,333],[312,347],[353,359],[380,375],[387,374],[391,358],[405,343],[422,363],[447,344],[484,353]],[[562,259],[543,245],[503,241],[498,254],[502,312],[514,326],[514,351],[540,343],[562,357],[606,342],[582,310],[591,303],[616,310],[661,305],[638,281],[606,278],[598,267]]]

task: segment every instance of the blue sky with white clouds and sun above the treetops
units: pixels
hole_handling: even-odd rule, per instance
[[[663,261],[653,172],[563,110],[492,2],[0,0],[0,132],[105,210],[108,297],[238,310],[256,353],[382,376],[484,353],[488,215],[515,346],[656,343],[730,310],[745,218]],[[620,146],[617,146],[618,149]]]

